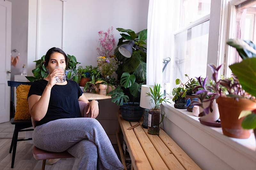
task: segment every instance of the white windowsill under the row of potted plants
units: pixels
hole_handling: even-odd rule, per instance
[[[237,152],[240,152],[241,154],[256,160],[256,154],[255,154],[256,142],[255,142],[255,137],[253,132],[248,139],[237,139],[237,138],[227,137],[223,135],[221,128],[215,128],[215,127],[205,126],[201,124],[198,120],[198,117],[194,116],[192,112],[188,112],[185,109],[176,109],[174,108],[173,104],[162,103],[162,105],[163,105],[162,107],[166,107],[170,111],[170,112],[169,111],[166,112],[166,109],[165,109],[165,114],[167,119],[175,123],[181,129],[184,125],[179,124],[178,121],[176,120],[172,120],[172,117],[173,117],[172,114],[179,115],[183,120],[186,120],[188,122],[187,124],[188,126],[193,125],[193,127],[198,128],[198,130],[199,129],[203,130],[205,133],[219,140],[220,143],[223,143],[227,147],[229,146],[232,149],[236,150]],[[188,135],[191,135],[187,131],[186,133]]]

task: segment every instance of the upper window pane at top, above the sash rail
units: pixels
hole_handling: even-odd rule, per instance
[[[210,14],[211,0],[182,0],[180,27]]]

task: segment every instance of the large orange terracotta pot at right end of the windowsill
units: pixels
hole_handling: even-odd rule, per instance
[[[219,97],[217,99],[220,110],[220,121],[223,134],[228,137],[246,139],[250,137],[251,130],[241,127],[244,117],[238,119],[242,110],[256,109],[256,102],[249,99],[236,101],[230,97]]]

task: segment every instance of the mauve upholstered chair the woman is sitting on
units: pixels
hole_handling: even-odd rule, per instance
[[[85,114],[85,111],[88,109],[88,104],[79,101],[79,107],[82,117],[88,117],[89,114]],[[33,155],[36,160],[43,160],[42,164],[42,170],[45,168],[46,159],[61,159],[61,158],[74,158],[71,154],[69,154],[67,151],[64,152],[49,152],[42,149],[37,148],[34,146],[33,148]]]

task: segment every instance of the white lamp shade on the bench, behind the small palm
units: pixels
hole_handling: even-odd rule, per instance
[[[151,97],[147,96],[146,93],[150,92],[149,87],[151,89],[154,88],[154,85],[141,85],[141,92],[140,92],[140,107],[145,108],[145,109],[151,109],[153,107],[153,103],[151,103]],[[151,105],[150,105],[151,103]]]

